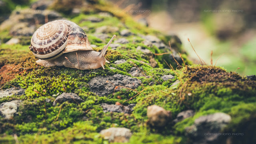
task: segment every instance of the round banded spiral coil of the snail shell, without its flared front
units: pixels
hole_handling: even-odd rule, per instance
[[[60,20],[48,22],[33,34],[29,48],[40,59],[54,58],[65,49],[68,33],[69,26],[66,23]]]

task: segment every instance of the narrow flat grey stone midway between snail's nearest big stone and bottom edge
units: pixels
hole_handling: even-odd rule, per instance
[[[131,114],[133,111],[133,107],[135,104],[129,104],[128,106],[123,106],[123,105],[116,105],[116,104],[101,104],[103,108],[103,112],[123,112],[126,114]]]

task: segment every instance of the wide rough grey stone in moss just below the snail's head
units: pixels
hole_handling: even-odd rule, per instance
[[[124,86],[135,89],[140,86],[140,84],[141,81],[137,78],[123,76],[121,74],[115,74],[114,76],[97,76],[92,78],[92,80],[89,82],[91,92],[94,92],[99,96],[108,96],[114,91],[117,92],[122,88],[116,88],[116,86]]]

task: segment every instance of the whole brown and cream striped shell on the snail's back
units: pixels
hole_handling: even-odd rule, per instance
[[[42,60],[52,60],[76,50],[93,50],[84,30],[69,20],[54,20],[40,26],[29,48]]]

